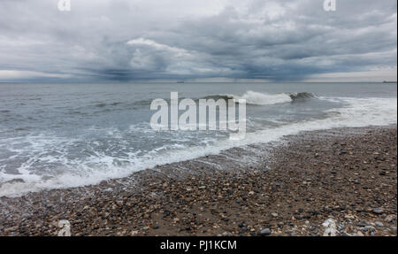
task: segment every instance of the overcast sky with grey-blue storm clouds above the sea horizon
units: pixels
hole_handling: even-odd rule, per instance
[[[0,1],[0,81],[396,81],[397,1]]]

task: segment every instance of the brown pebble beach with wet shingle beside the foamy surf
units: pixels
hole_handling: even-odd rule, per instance
[[[396,125],[289,135],[99,185],[0,197],[0,235],[396,235]],[[268,229],[268,230],[267,230]],[[268,234],[269,233],[269,234]]]

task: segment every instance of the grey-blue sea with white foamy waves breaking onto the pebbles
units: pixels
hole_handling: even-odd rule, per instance
[[[154,131],[153,99],[245,98],[247,135]],[[155,165],[333,127],[396,124],[396,83],[0,84],[0,196],[96,184]]]

